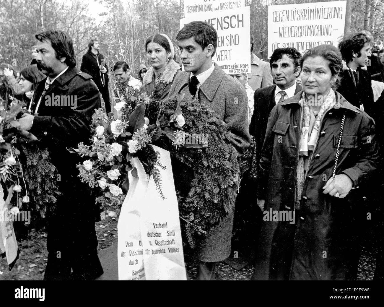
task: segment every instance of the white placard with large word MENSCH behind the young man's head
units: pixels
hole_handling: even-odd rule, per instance
[[[217,49],[212,60],[225,73],[251,72],[249,7],[189,14],[180,20],[180,29],[196,20],[207,22],[217,31]]]

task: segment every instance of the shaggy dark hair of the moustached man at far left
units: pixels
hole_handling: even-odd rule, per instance
[[[64,63],[69,67],[76,66],[76,56],[74,55],[72,38],[68,33],[59,30],[48,30],[35,35],[38,41],[50,40],[53,50],[55,50],[56,58],[65,57]]]

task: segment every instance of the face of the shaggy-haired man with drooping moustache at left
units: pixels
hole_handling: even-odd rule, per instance
[[[37,41],[36,49],[37,67],[42,73],[50,77],[60,73],[65,58],[62,58],[61,60],[56,58],[56,52],[51,45],[51,41]]]

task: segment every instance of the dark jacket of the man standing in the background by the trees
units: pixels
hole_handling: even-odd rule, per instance
[[[104,66],[107,71],[102,73],[99,66]],[[91,50],[88,50],[86,54],[83,55],[83,60],[81,61],[80,70],[88,75],[92,76],[92,80],[98,88],[103,86],[108,87],[108,65],[105,63],[104,56],[101,53],[97,55],[93,54]],[[102,83],[102,81],[104,81]]]

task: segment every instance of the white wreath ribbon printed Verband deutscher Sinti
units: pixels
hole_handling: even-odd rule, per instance
[[[153,146],[153,145],[152,145]],[[147,181],[138,158],[131,163],[137,177],[129,172],[129,191],[118,222],[119,280],[186,280],[181,240],[179,207],[169,151],[160,152],[162,199],[151,177]]]

